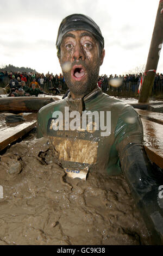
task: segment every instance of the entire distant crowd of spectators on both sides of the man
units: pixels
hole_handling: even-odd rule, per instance
[[[116,74],[107,76],[101,75],[98,78],[98,86],[103,92],[117,91],[117,92],[138,92],[142,73],[119,75]],[[38,96],[39,94],[66,92],[67,86],[65,78],[60,75],[53,74],[34,74],[27,72],[0,72],[0,82],[3,79],[8,80],[10,87],[9,96]],[[113,81],[113,82],[112,82]],[[114,81],[118,81],[114,83]],[[163,75],[157,73],[153,84],[154,93],[163,93]],[[46,94],[45,93],[45,94]]]

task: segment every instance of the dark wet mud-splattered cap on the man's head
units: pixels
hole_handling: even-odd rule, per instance
[[[72,14],[62,20],[59,29],[56,46],[60,49],[62,37],[69,31],[84,30],[92,33],[102,49],[104,48],[104,38],[102,36],[100,28],[97,26],[95,21],[84,14]]]

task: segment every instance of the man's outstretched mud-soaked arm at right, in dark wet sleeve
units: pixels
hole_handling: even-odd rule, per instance
[[[143,129],[139,116],[131,107],[124,108],[115,130],[121,169],[135,203],[139,207],[155,244],[163,243],[163,199],[158,197],[163,185],[143,148]]]

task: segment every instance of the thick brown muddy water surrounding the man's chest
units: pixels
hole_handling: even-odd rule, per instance
[[[1,156],[0,245],[148,245],[123,175],[68,178],[47,139]]]

